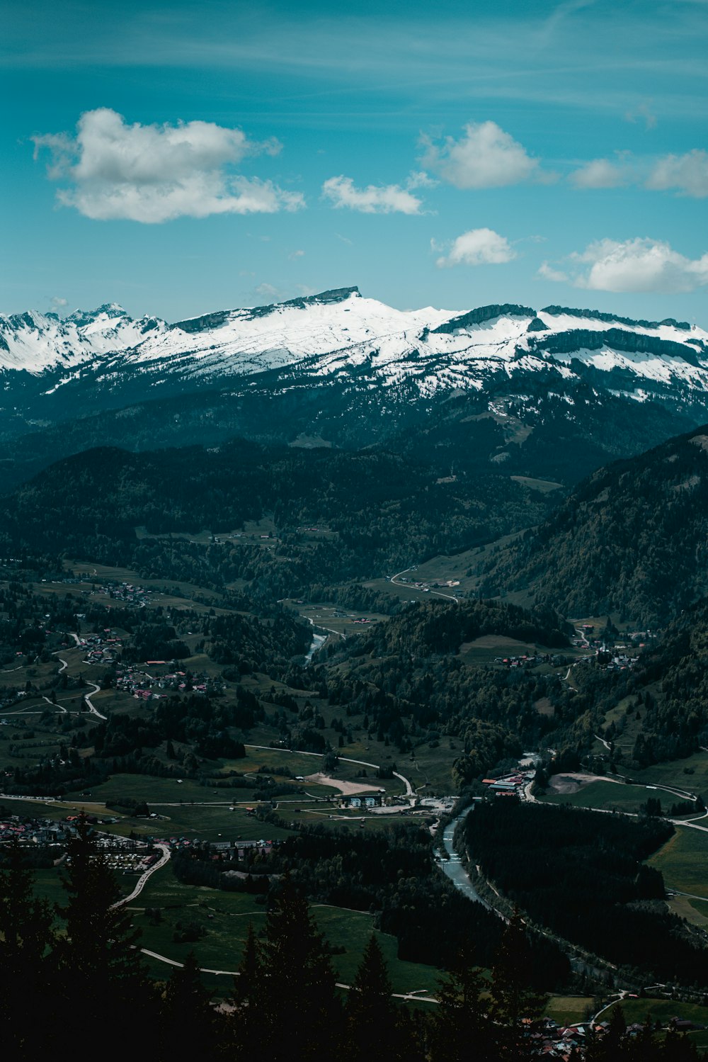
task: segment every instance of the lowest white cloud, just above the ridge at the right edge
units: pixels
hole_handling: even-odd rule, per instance
[[[597,240],[569,256],[569,273],[543,263],[539,274],[591,291],[637,291],[674,294],[708,285],[708,254],[686,258],[661,240]],[[589,267],[589,268],[586,268]]]

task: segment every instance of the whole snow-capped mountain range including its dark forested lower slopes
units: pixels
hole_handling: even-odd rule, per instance
[[[708,332],[559,306],[400,311],[357,288],[174,324],[109,304],[0,316],[0,388],[15,477],[89,446],[238,434],[403,439],[570,482],[708,421]]]

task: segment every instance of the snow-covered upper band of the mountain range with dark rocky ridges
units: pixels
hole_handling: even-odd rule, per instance
[[[273,306],[226,310],[168,325],[132,320],[115,304],[59,321],[28,312],[0,316],[5,390],[24,371],[45,394],[92,377],[110,390],[131,376],[146,387],[174,377],[224,377],[293,370],[304,376],[361,375],[390,387],[411,380],[421,396],[481,389],[498,373],[553,367],[559,382],[574,364],[617,373],[627,395],[675,383],[708,392],[708,332],[673,320],[629,321],[591,310],[486,306],[469,312],[400,311],[357,288]],[[289,375],[292,375],[289,374]],[[617,389],[614,389],[617,390]]]

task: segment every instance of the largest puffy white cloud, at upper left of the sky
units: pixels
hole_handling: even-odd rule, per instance
[[[297,192],[232,172],[248,155],[277,154],[276,140],[258,143],[213,122],[128,125],[101,107],[81,116],[75,138],[47,134],[34,142],[35,157],[42,148],[51,153],[49,177],[69,182],[57,192],[58,202],[96,220],[155,223],[305,205]]]

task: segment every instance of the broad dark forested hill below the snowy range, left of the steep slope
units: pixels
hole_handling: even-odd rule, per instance
[[[449,469],[448,469],[449,470]],[[0,511],[0,555],[23,550],[136,568],[269,599],[311,582],[380,575],[537,521],[548,495],[484,473],[441,476],[429,461],[385,450],[263,447],[151,453],[96,449],[58,462]],[[149,534],[227,532],[267,516],[265,549],[228,538],[202,549]],[[312,526],[325,533],[310,534]]]

